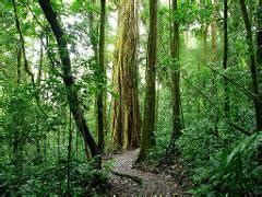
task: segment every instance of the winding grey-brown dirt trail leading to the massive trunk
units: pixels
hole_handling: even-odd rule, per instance
[[[174,177],[164,174],[155,174],[152,172],[133,169],[133,163],[139,154],[139,149],[124,151],[115,157],[116,166],[114,172],[132,176],[142,181],[140,196],[164,195],[174,196],[182,194],[182,189]]]

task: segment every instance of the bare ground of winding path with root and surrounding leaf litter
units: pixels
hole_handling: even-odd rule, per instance
[[[124,151],[121,154],[115,154],[116,162],[109,184],[111,185],[108,195],[117,196],[174,196],[186,195],[181,185],[181,178],[176,178],[169,170],[162,169],[157,173],[148,172],[144,169],[134,167],[133,164],[138,158],[139,149]],[[177,166],[177,165],[176,165]],[[172,174],[180,174],[180,167],[171,166]]]

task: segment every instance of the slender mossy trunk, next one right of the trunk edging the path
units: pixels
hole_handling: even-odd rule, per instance
[[[177,12],[177,0],[172,0],[172,11]],[[181,136],[181,108],[180,108],[180,65],[179,65],[179,24],[174,21],[171,58],[174,61],[172,80],[172,134],[170,140],[170,150],[175,149],[176,140]]]

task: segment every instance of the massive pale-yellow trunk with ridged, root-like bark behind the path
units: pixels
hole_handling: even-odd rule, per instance
[[[118,148],[130,149],[140,144],[136,0],[122,0],[119,7],[112,77],[118,99],[112,103],[112,143]]]

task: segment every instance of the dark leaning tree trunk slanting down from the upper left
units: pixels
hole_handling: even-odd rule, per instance
[[[70,112],[72,113],[75,124],[84,139],[84,143],[90,147],[92,155],[97,157],[100,154],[100,150],[91,135],[84,117],[84,112],[81,108],[81,101],[79,99],[78,89],[74,85],[70,55],[67,47],[67,39],[64,33],[58,22],[55,11],[52,10],[50,0],[38,0],[38,2],[41,7],[41,10],[44,11],[48,23],[51,26],[51,30],[58,43],[59,55],[62,62],[63,82],[67,89],[67,97]]]

